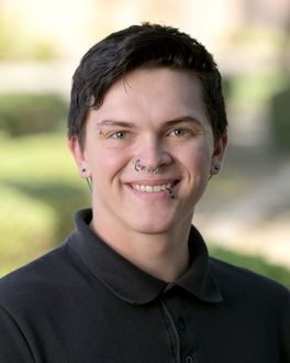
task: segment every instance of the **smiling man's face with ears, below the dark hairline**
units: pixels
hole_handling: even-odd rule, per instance
[[[116,81],[101,108],[89,112],[85,148],[76,140],[71,148],[92,178],[97,232],[99,226],[164,233],[191,223],[226,143],[224,138],[214,146],[201,94],[188,72],[141,68]],[[157,174],[148,173],[157,167]]]

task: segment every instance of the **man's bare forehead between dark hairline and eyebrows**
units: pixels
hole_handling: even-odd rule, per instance
[[[208,122],[199,78],[190,72],[167,67],[129,73],[111,86],[102,106],[92,113],[98,121],[156,124],[192,117]]]

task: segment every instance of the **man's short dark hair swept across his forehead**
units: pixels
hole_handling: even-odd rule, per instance
[[[105,92],[120,77],[148,66],[192,70],[201,80],[215,141],[225,133],[222,77],[212,55],[175,28],[144,23],[112,33],[82,57],[72,78],[68,138],[77,136],[83,146],[88,110],[101,107]]]

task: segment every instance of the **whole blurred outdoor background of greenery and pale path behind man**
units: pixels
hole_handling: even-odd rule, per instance
[[[194,224],[211,253],[290,286],[289,0],[0,0],[0,275],[89,206],[66,146],[71,76],[113,31],[174,25],[214,54],[230,146]]]

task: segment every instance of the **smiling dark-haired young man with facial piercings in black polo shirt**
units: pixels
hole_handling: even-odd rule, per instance
[[[176,29],[85,55],[68,135],[92,209],[0,282],[0,362],[290,362],[289,292],[209,257],[191,226],[226,124],[212,56]]]

